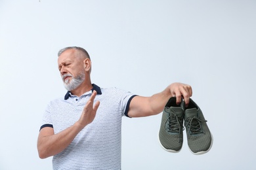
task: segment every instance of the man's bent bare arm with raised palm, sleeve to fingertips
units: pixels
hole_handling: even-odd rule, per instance
[[[96,92],[94,91],[91,98],[85,105],[81,117],[73,126],[70,126],[56,134],[54,134],[52,127],[44,127],[41,129],[37,139],[39,158],[47,158],[62,152],[70,143],[72,143],[79,131],[93,122],[96,115],[96,110],[100,105],[100,102],[97,101],[93,107],[95,96]]]

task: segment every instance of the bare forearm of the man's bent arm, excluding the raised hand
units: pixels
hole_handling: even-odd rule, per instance
[[[73,126],[64,129],[60,133],[53,135],[39,135],[37,149],[40,158],[48,158],[62,152],[72,141],[83,127],[75,123]]]

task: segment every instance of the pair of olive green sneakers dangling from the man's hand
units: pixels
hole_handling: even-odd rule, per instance
[[[206,122],[202,110],[192,99],[188,107],[185,107],[183,100],[177,105],[176,97],[171,97],[165,105],[161,118],[159,132],[161,146],[168,152],[179,152],[182,148],[185,127],[192,154],[205,154],[213,144],[213,136]]]

